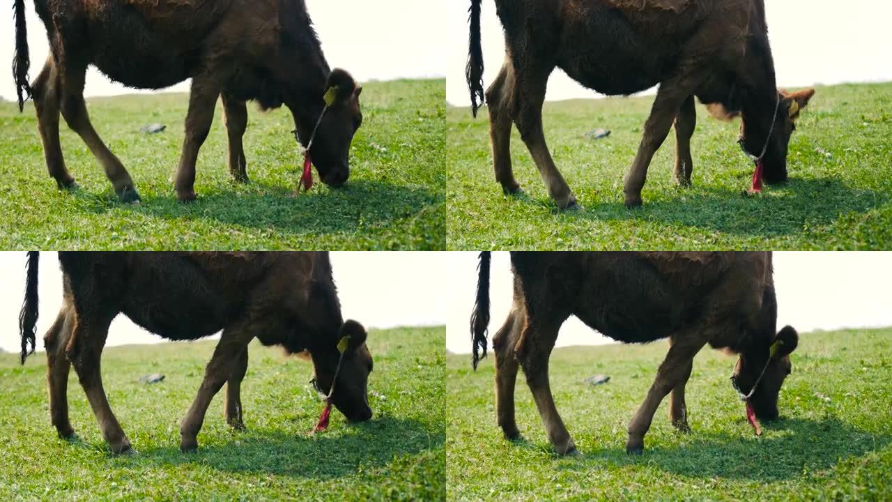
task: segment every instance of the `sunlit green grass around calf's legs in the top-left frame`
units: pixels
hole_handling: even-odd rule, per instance
[[[364,85],[364,121],[351,147],[344,189],[314,185],[291,197],[302,158],[282,109],[249,106],[244,137],[251,182],[233,182],[218,104],[196,166],[196,204],[177,202],[169,182],[178,164],[188,97],[89,98],[96,130],[136,182],[142,205],[122,205],[103,169],[62,121],[62,151],[78,180],[61,192],[46,172],[33,105],[20,114],[0,103],[2,249],[442,249],[445,81]],[[161,134],[139,128],[161,122]],[[315,170],[314,170],[315,171]],[[314,172],[318,180],[318,176]]]

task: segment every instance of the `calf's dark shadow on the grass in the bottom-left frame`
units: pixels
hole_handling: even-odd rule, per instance
[[[136,456],[116,456],[111,462],[139,465],[201,465],[230,473],[257,473],[298,478],[331,479],[390,464],[395,456],[440,448],[445,431],[429,431],[424,423],[393,417],[345,425],[339,435],[287,434],[259,429],[234,433],[225,445],[202,446],[197,453],[170,448],[138,449]],[[137,447],[138,448],[138,447]]]

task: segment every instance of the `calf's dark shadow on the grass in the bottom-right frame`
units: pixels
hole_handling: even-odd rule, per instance
[[[643,456],[626,456],[624,449],[582,452],[579,461],[562,461],[558,469],[590,470],[608,465],[647,464],[668,473],[698,478],[781,481],[809,471],[833,467],[839,460],[884,448],[892,438],[860,431],[837,418],[821,421],[785,419],[766,423],[769,438],[741,439],[730,434],[690,432],[681,448],[648,448]],[[608,465],[607,465],[608,464]]]

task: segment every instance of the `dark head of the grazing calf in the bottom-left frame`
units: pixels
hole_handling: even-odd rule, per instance
[[[347,321],[338,333],[338,342],[347,339],[340,370],[337,369],[340,353],[333,349],[326,355],[313,355],[313,369],[317,389],[327,394],[334,381],[332,404],[351,422],[365,422],[372,417],[368,406],[368,373],[372,372],[372,355],[366,347],[366,330],[359,322]]]

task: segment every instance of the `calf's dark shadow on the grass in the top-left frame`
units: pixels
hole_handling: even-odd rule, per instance
[[[239,193],[240,192],[240,193]],[[181,204],[169,197],[143,199],[140,205],[122,206],[108,195],[97,197],[75,192],[78,197],[96,197],[90,210],[107,213],[127,207],[161,219],[203,219],[226,225],[277,232],[341,233],[365,227],[381,227],[404,220],[444,199],[428,188],[394,185],[386,181],[354,180],[344,188],[311,190],[293,196],[291,188],[251,181],[244,191],[214,191],[199,194],[197,201]]]

